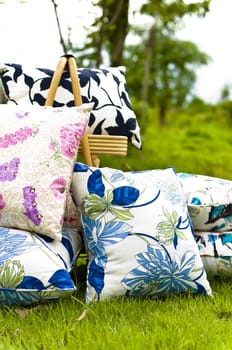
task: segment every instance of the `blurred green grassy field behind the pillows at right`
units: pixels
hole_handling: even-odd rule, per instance
[[[150,110],[142,129],[143,149],[129,147],[123,157],[102,157],[102,166],[123,170],[174,167],[177,172],[205,174],[231,179],[231,119],[216,106],[201,111],[174,110],[167,125],[158,123],[157,111]],[[139,116],[143,126],[143,115]]]

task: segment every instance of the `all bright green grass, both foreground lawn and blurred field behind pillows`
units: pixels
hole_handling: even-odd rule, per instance
[[[160,128],[154,119],[142,132],[143,150],[126,158],[103,157],[102,166],[125,170],[166,168],[232,179],[229,123],[212,112],[179,115]],[[84,305],[83,266],[73,275],[71,298],[38,307],[0,309],[0,350],[224,350],[232,349],[232,283],[213,279],[213,298],[165,300],[119,298]]]

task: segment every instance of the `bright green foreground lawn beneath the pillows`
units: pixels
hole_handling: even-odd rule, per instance
[[[27,309],[1,309],[0,349],[183,350],[232,348],[231,283],[213,280],[214,297],[115,299],[85,310],[83,295]],[[25,311],[25,310],[24,310]]]

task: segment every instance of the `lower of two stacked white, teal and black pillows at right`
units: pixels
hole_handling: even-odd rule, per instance
[[[207,276],[231,278],[232,231],[220,233],[197,231],[196,241]]]

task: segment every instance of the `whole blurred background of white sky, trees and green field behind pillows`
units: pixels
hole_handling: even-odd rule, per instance
[[[124,65],[144,147],[117,165],[231,178],[231,13],[229,0],[0,0],[0,63]]]

